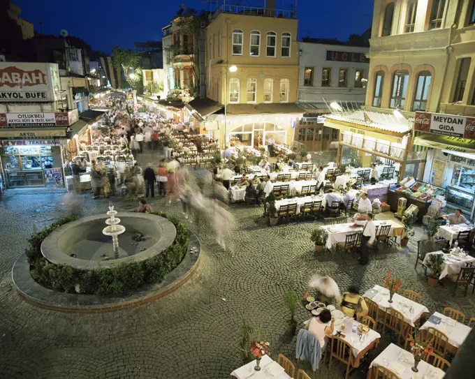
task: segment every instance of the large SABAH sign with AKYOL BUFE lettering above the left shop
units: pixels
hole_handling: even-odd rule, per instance
[[[0,62],[0,102],[52,102],[60,98],[57,64]]]

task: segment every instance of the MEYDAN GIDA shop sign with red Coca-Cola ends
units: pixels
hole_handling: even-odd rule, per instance
[[[473,140],[475,139],[475,118],[455,114],[416,112],[414,130]]]

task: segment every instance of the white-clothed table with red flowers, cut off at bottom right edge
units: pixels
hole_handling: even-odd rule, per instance
[[[419,362],[417,369],[418,373],[412,371],[414,367],[414,355],[410,352],[403,350],[399,346],[391,343],[386,349],[384,349],[380,355],[378,355],[370,364],[370,370],[368,371],[367,378],[374,379],[372,376],[372,367],[381,366],[393,371],[400,379],[412,379],[412,378],[428,378],[428,379],[441,379],[444,378],[445,373],[441,369],[428,364],[427,362]]]

